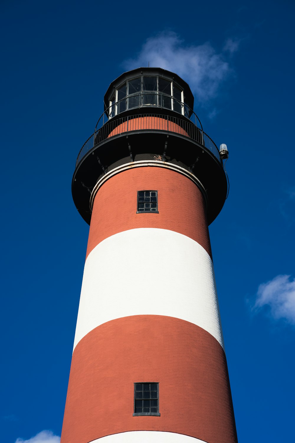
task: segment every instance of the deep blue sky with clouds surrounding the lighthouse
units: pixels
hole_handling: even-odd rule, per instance
[[[230,152],[210,235],[239,443],[295,442],[294,12],[1,2],[1,441],[59,441],[88,237],[75,161],[110,82],[149,62],[191,85]]]

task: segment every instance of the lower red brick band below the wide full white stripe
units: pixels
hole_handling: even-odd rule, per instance
[[[132,416],[134,382],[159,382],[160,417]],[[237,442],[226,357],[199,326],[135,315],[98,326],[75,348],[61,443],[139,430]]]

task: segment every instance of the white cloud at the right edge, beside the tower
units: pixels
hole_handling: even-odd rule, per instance
[[[295,324],[295,279],[279,275],[259,285],[254,309],[269,307],[274,319]]]

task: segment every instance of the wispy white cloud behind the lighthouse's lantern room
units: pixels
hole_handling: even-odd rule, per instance
[[[225,52],[232,53],[238,49],[238,41],[228,39],[225,47]],[[172,31],[150,37],[135,58],[123,62],[127,70],[148,64],[176,72],[201,103],[215,97],[220,84],[232,72],[224,54],[218,54],[210,43],[188,45]]]

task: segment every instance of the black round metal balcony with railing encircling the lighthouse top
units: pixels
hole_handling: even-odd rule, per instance
[[[156,159],[186,169],[202,183],[210,224],[222,209],[227,192],[216,144],[203,132],[193,112],[191,118],[195,123],[173,109],[155,107],[153,113],[146,113],[147,110],[151,110],[150,105],[127,109],[118,117],[110,117],[106,112],[100,117],[76,161],[72,194],[79,213],[90,224],[90,194],[107,172],[124,164]]]

